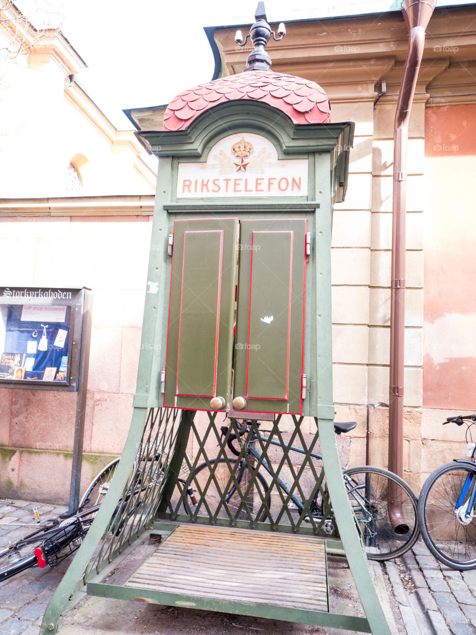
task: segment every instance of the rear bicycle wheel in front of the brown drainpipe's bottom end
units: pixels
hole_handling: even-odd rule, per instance
[[[393,472],[370,465],[352,467],[343,475],[367,558],[390,560],[402,556],[420,533],[417,498],[411,487]]]

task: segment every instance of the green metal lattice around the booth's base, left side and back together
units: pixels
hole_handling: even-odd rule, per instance
[[[227,420],[230,425],[223,436],[216,423],[218,413],[208,413],[206,424],[193,414],[149,410],[128,482],[84,581],[132,544],[155,518],[336,535],[327,518],[330,507],[321,460],[312,456],[319,455],[319,435],[301,430],[303,417],[293,415],[283,422],[278,415],[266,430],[252,422],[234,441],[239,449],[235,457],[227,442],[237,434],[236,422]]]

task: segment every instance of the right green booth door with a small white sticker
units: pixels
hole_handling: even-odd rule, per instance
[[[243,413],[301,413],[306,230],[305,218],[241,221],[233,394]]]

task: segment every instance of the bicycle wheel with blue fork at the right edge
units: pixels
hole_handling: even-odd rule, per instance
[[[463,500],[458,499],[466,483],[476,475],[476,466],[447,463],[436,469],[425,481],[418,500],[421,535],[432,554],[453,569],[476,568],[476,524],[474,508],[466,519],[464,513],[472,486]],[[458,509],[460,514],[458,514]]]

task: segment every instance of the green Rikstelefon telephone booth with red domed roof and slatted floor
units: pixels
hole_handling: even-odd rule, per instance
[[[270,35],[256,19],[255,43]],[[354,124],[330,123],[324,91],[272,72],[266,58],[257,47],[245,72],[178,95],[164,130],[138,132],[160,159],[133,419],[44,633],[84,586],[390,633],[333,425],[332,209],[345,196]],[[319,445],[322,464],[311,456]],[[320,517],[310,512],[317,496]],[[105,580],[150,535],[162,542],[128,581]],[[347,555],[366,618],[329,612],[333,549]]]

